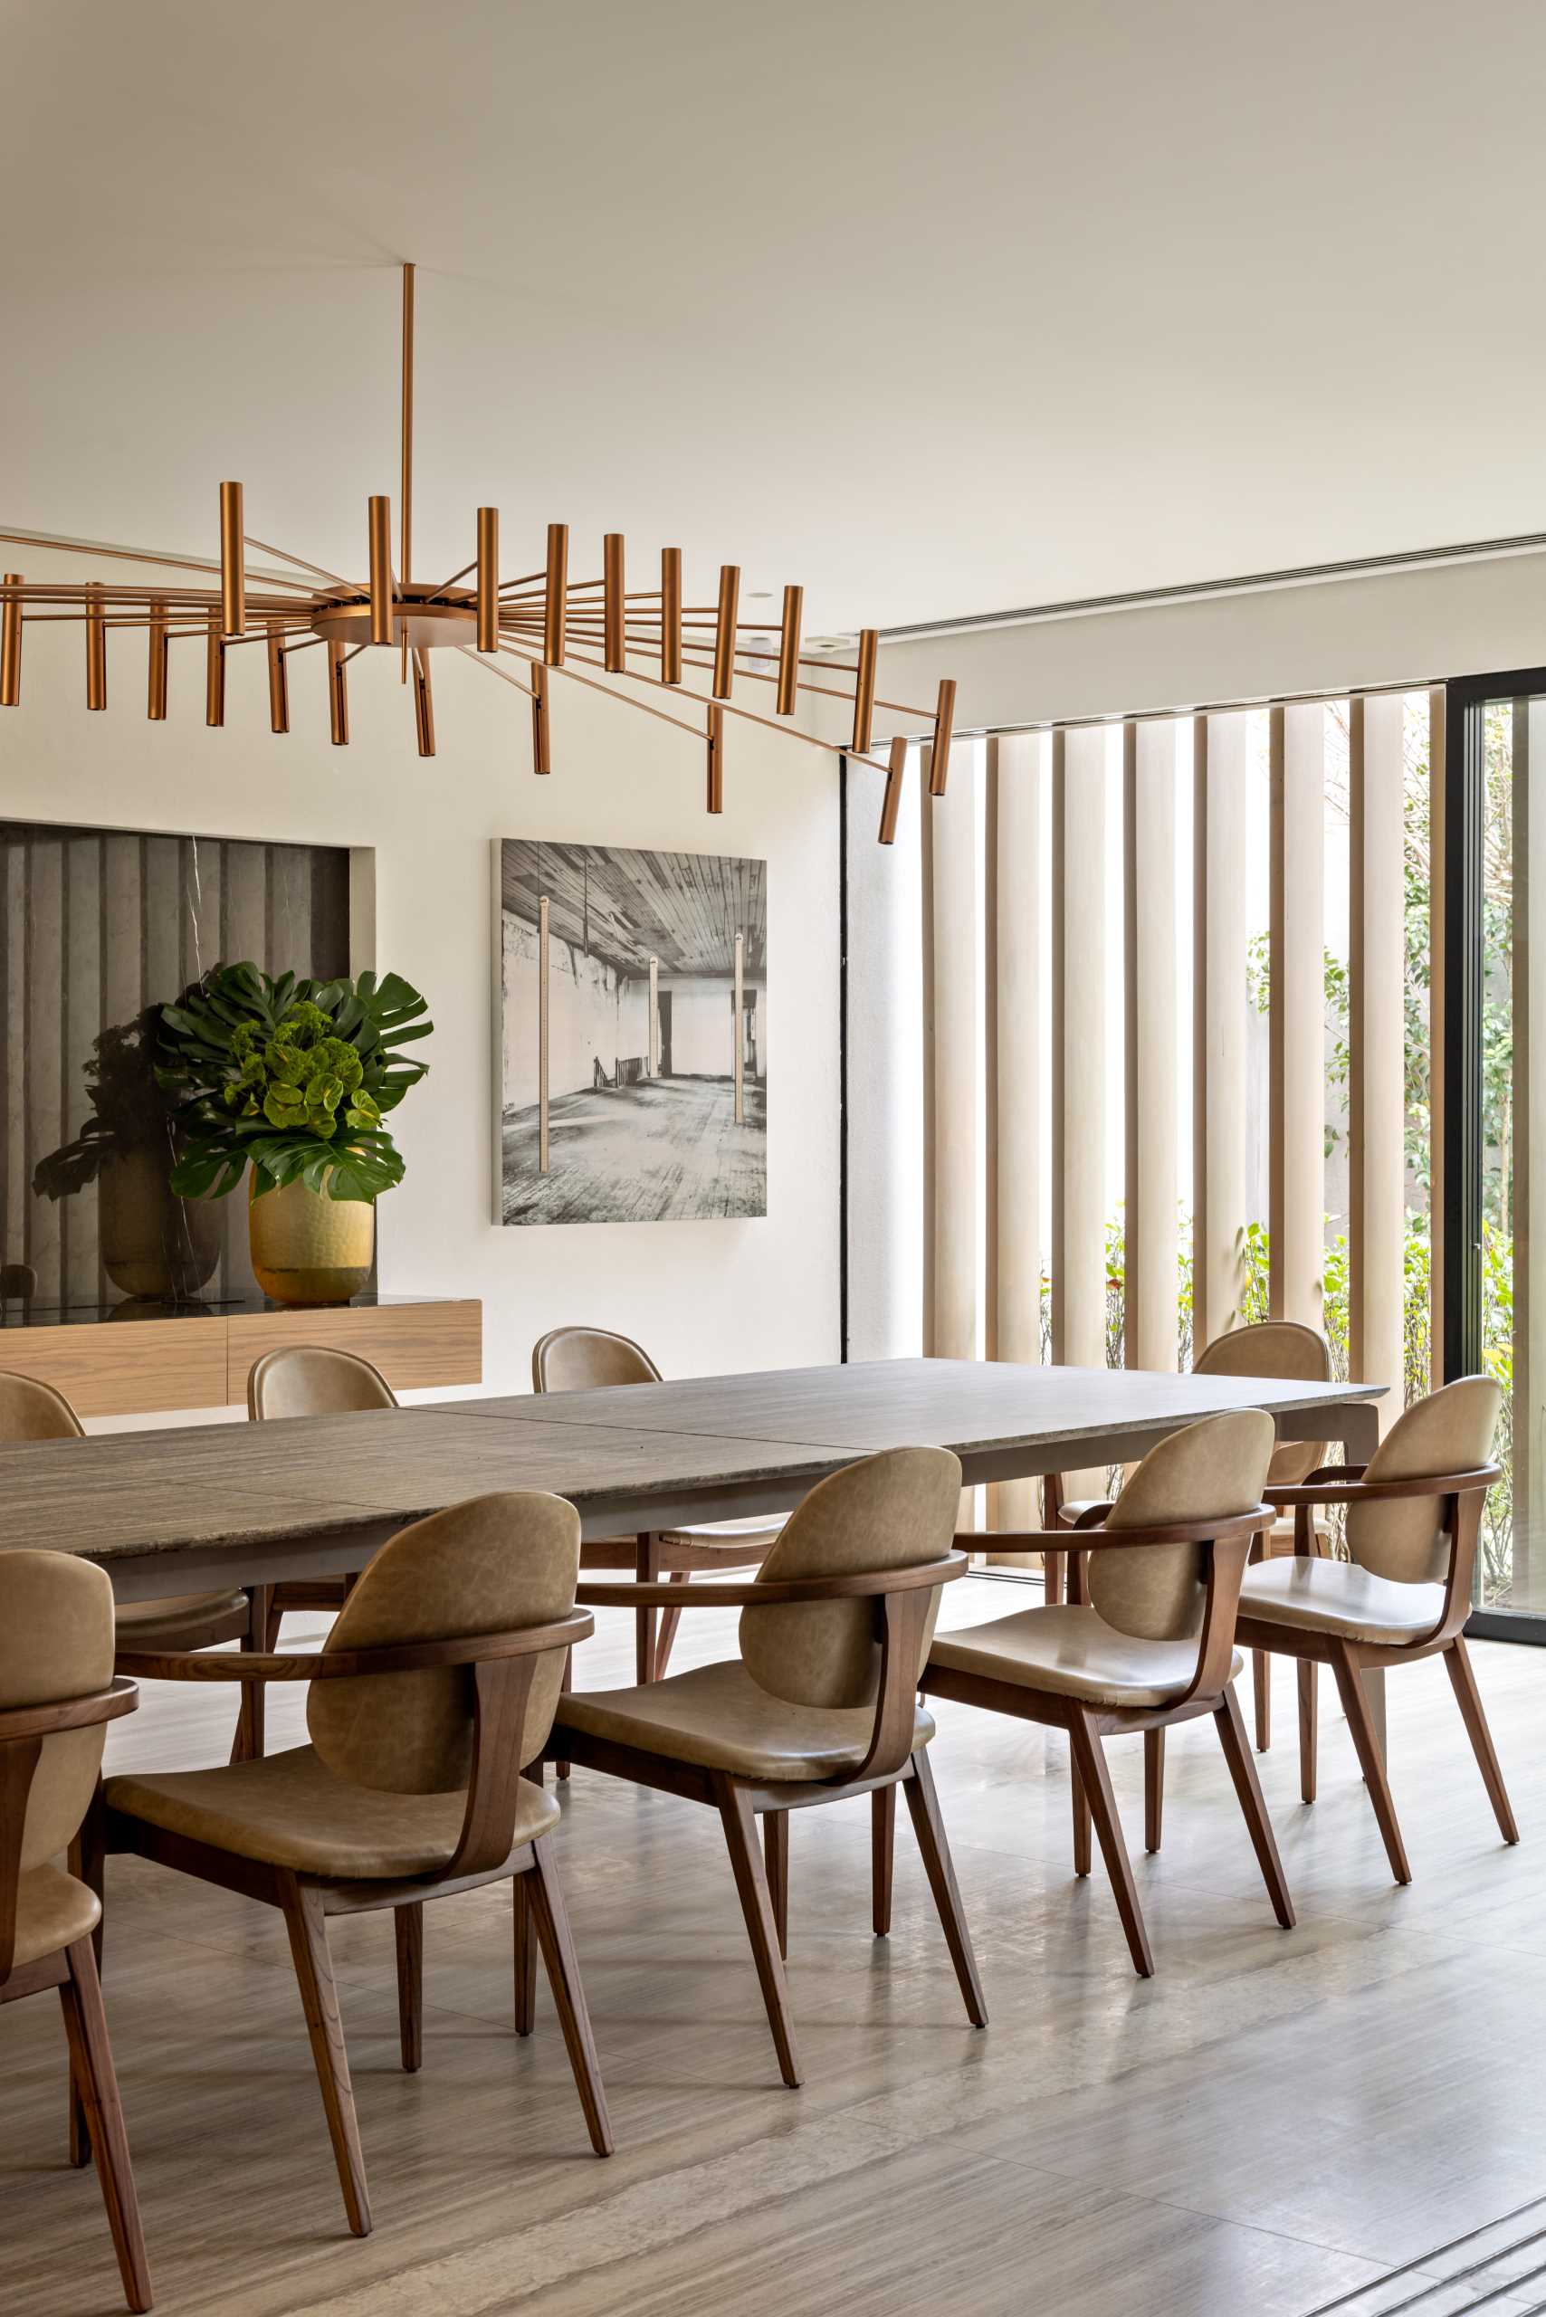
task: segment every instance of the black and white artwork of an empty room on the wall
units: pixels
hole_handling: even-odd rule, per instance
[[[767,862],[494,855],[501,1221],[767,1214]]]

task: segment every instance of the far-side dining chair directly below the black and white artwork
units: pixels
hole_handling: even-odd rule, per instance
[[[607,1383],[661,1383],[661,1369],[633,1337],[607,1328],[552,1328],[531,1353],[531,1388],[535,1393],[584,1393]],[[642,1536],[600,1536],[579,1548],[582,1569],[630,1569],[640,1585],[670,1578],[686,1585],[693,1571],[760,1569],[776,1543],[783,1513],[749,1520],[705,1520],[691,1529],[658,1529]],[[640,1601],[633,1610],[633,1673],[637,1682],[658,1682],[670,1664],[681,1608],[670,1606],[656,1631],[654,1606]],[[563,1766],[559,1766],[563,1770]]]

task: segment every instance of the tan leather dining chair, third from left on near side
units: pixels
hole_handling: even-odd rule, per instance
[[[783,2083],[800,2083],[788,2002],[788,1814],[897,1786],[973,2027],[983,1988],[939,1814],[918,1675],[950,1550],[962,1469],[943,1448],[888,1448],[821,1481],[742,1585],[651,1585],[661,1608],[739,1608],[742,1654],[633,1689],[573,1689],[549,1754],[719,1812]],[[582,1583],[633,1608],[633,1585]],[[758,1849],[763,1819],[767,1858]],[[878,1823],[878,1817],[876,1817]]]

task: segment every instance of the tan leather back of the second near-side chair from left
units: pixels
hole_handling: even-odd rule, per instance
[[[579,1513],[542,1490],[473,1497],[380,1548],[334,1617],[324,1650],[459,1640],[549,1624],[575,1606]],[[547,1742],[563,1650],[535,1664],[522,1766]],[[306,1726],[329,1770],[385,1793],[454,1793],[473,1768],[473,1673],[362,1673],[313,1682]]]

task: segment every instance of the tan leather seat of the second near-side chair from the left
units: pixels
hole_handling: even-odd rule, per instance
[[[450,1865],[466,1807],[461,1793],[355,1786],[308,1745],[218,1770],[109,1777],[104,1791],[109,1810],[165,1826],[172,1835],[239,1858],[264,1858],[297,1874],[341,1879],[438,1872]],[[512,1847],[556,1823],[556,1800],[522,1779]]]

